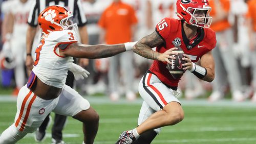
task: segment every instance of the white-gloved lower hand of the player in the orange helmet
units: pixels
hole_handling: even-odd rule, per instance
[[[71,63],[69,70],[74,74],[76,80],[87,78],[90,73],[81,66]]]

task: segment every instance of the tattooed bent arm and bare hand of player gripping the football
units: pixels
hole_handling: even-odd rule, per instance
[[[163,54],[152,50],[153,47],[163,43],[164,43],[164,40],[157,34],[156,31],[154,31],[152,34],[147,35],[143,37],[141,40],[139,40],[133,47],[133,51],[136,54],[142,57],[145,57],[147,59],[153,59],[153,60],[158,60],[162,62],[166,61],[170,63],[169,59],[175,59],[175,57],[172,57],[170,55],[178,55],[177,53],[173,52],[174,50],[177,50],[176,47],[173,47],[172,49],[167,50]]]

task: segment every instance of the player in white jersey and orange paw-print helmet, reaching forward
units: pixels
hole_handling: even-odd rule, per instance
[[[51,112],[72,116],[83,123],[83,143],[93,143],[99,116],[90,103],[65,85],[68,70],[75,78],[89,73],[72,63],[77,58],[104,58],[132,50],[135,42],[115,45],[85,45],[77,41],[73,14],[62,6],[50,6],[39,14],[41,42],[28,83],[18,93],[14,123],[0,136],[0,144],[16,143],[35,131]],[[161,54],[163,59],[169,54]]]

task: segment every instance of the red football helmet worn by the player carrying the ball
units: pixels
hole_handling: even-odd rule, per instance
[[[176,6],[178,17],[189,25],[201,28],[210,27],[212,17],[209,13],[211,7],[207,0],[178,0]]]

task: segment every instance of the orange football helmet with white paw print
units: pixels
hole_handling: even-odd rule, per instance
[[[77,25],[73,22],[72,12],[59,5],[50,6],[43,10],[38,16],[38,25],[43,34],[67,29],[75,32],[77,30]]]

